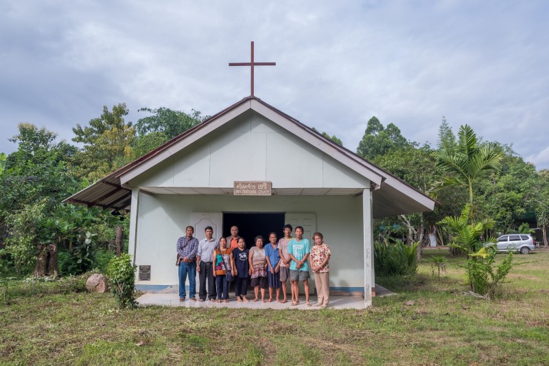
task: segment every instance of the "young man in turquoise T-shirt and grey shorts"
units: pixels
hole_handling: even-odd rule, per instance
[[[303,238],[303,227],[296,227],[296,237],[288,243],[290,256],[290,283],[292,285],[292,305],[299,305],[299,281],[305,286],[305,304],[312,306],[309,301],[309,265],[307,258],[311,253],[311,243]]]

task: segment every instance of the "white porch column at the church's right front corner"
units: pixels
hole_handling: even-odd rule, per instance
[[[362,220],[364,222],[364,307],[372,306],[373,279],[373,231],[372,231],[372,192],[366,188],[362,192]]]

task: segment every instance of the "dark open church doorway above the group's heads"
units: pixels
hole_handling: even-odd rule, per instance
[[[231,236],[231,227],[238,227],[238,235],[246,240],[246,247],[255,245],[254,238],[264,237],[264,244],[269,242],[269,233],[274,231],[282,238],[284,227],[283,212],[224,212],[223,236]]]

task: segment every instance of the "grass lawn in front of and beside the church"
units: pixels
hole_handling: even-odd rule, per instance
[[[108,294],[12,282],[0,364],[548,365],[549,251],[515,255],[494,300],[463,295],[463,258],[432,275],[441,254],[425,250],[415,279],[377,278],[399,295],[368,310],[117,310]]]

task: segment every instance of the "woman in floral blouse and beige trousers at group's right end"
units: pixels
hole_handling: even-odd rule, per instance
[[[318,295],[318,304],[315,306],[326,308],[330,298],[328,261],[331,253],[330,248],[323,242],[323,238],[321,233],[313,234],[314,245],[309,255],[309,264],[313,270],[314,285]]]

